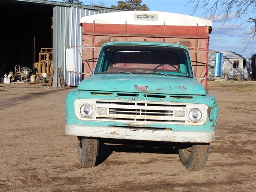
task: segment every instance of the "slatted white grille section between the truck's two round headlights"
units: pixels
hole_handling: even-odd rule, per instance
[[[175,111],[184,111],[184,117],[176,117]],[[129,122],[185,122],[186,105],[170,105],[158,102],[97,101],[94,118]]]

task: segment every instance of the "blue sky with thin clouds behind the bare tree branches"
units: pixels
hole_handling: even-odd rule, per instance
[[[117,5],[116,0],[80,0],[84,5],[90,5],[92,3],[98,4],[104,2],[107,7],[111,5]],[[215,2],[212,0],[212,2]],[[178,14],[192,15],[193,14],[193,4],[185,6],[187,3],[186,0],[143,0],[142,4],[146,4],[150,11],[162,11],[162,12],[173,12]],[[236,10],[233,9],[233,12]],[[193,16],[205,18],[203,14],[204,10],[199,9]],[[231,16],[234,13],[231,13]],[[253,17],[253,15],[246,15],[247,17]],[[255,17],[255,16],[254,16]],[[253,17],[253,18],[254,18]],[[212,24],[212,34],[210,34],[209,49],[210,50],[223,50],[223,51],[232,51],[239,53],[243,56],[251,57],[251,55],[256,53],[256,39],[251,40],[251,43],[247,46],[247,49],[243,51],[247,43],[244,42],[244,38],[247,37],[247,34],[250,32],[250,27],[245,24],[238,26],[238,24],[243,21],[238,20],[237,23],[233,26],[235,22],[234,17],[230,17],[229,21],[226,23],[220,21],[213,21]],[[233,27],[232,27],[233,26]],[[231,27],[231,28],[230,28]]]

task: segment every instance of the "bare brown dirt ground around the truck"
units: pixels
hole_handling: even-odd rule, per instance
[[[64,133],[70,89],[0,84],[0,191],[255,191],[256,82],[213,82],[216,140],[206,167],[187,171],[166,146],[100,145],[81,168]]]

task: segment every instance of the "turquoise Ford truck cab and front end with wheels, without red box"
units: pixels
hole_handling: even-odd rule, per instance
[[[188,170],[203,169],[215,140],[218,103],[194,76],[179,44],[109,42],[93,74],[66,98],[66,134],[78,137],[82,167],[93,167],[99,141],[175,142]]]

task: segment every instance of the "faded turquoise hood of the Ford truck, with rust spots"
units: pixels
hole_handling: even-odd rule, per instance
[[[136,90],[137,85],[148,87],[145,91],[139,91]],[[194,78],[151,74],[92,75],[78,85],[78,90],[206,95],[203,85]]]

